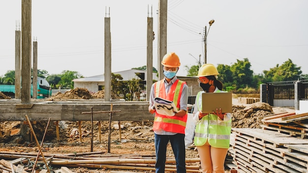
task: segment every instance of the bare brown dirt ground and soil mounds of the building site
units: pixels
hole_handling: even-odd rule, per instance
[[[93,99],[103,98],[103,91],[99,93],[91,94],[87,89],[76,88],[65,93],[57,93],[50,100],[57,99]],[[113,96],[114,97],[114,96]],[[0,93],[0,99],[8,99]],[[272,108],[266,103],[256,102],[253,104],[239,103],[239,99],[233,98],[233,112],[232,112],[232,127],[233,128],[261,128],[263,122],[258,119],[259,116],[271,115],[280,112],[294,111],[292,109],[285,108]],[[26,142],[20,135],[13,133],[15,129],[20,128],[20,121],[5,121],[0,122],[1,134],[0,138],[0,158],[6,158],[6,154],[20,154],[21,157],[25,153],[38,153],[39,147],[35,142],[35,137],[32,137],[31,142]],[[119,156],[119,158],[135,158],[146,157],[155,158],[154,148],[154,132],[152,130],[153,121],[101,121],[100,132],[98,133],[98,122],[84,121],[81,122],[81,136],[79,138],[79,125],[78,122],[60,121],[60,138],[57,140],[56,125],[55,122],[50,122],[48,127],[46,121],[33,122],[33,130],[39,143],[44,137],[41,151],[43,154],[48,155],[76,155],[83,153],[96,154],[97,157],[104,156]],[[110,140],[109,140],[109,125],[110,125]],[[119,130],[121,128],[121,134]],[[92,135],[93,128],[93,135]],[[46,130],[47,129],[47,130]],[[121,135],[121,139],[120,139]],[[109,143],[108,143],[109,141]],[[110,144],[110,145],[109,145]],[[172,148],[168,145],[167,158],[174,158]],[[186,149],[186,159],[198,158],[197,151],[191,147]],[[232,161],[232,158],[226,159],[226,162]],[[5,159],[9,161],[9,159]],[[42,162],[42,161],[41,161]],[[153,164],[151,165],[153,166]],[[148,167],[151,167],[148,164]],[[199,162],[187,163],[187,166],[200,166]],[[78,166],[77,168],[67,168],[74,173],[154,173],[151,170],[140,170],[138,168],[129,167],[131,169],[123,170],[114,168],[91,168],[90,166]],[[57,166],[51,165],[52,170],[60,169]],[[225,173],[229,173],[230,168],[226,167]],[[28,171],[29,172],[29,171]],[[36,171],[38,172],[38,170]]]

